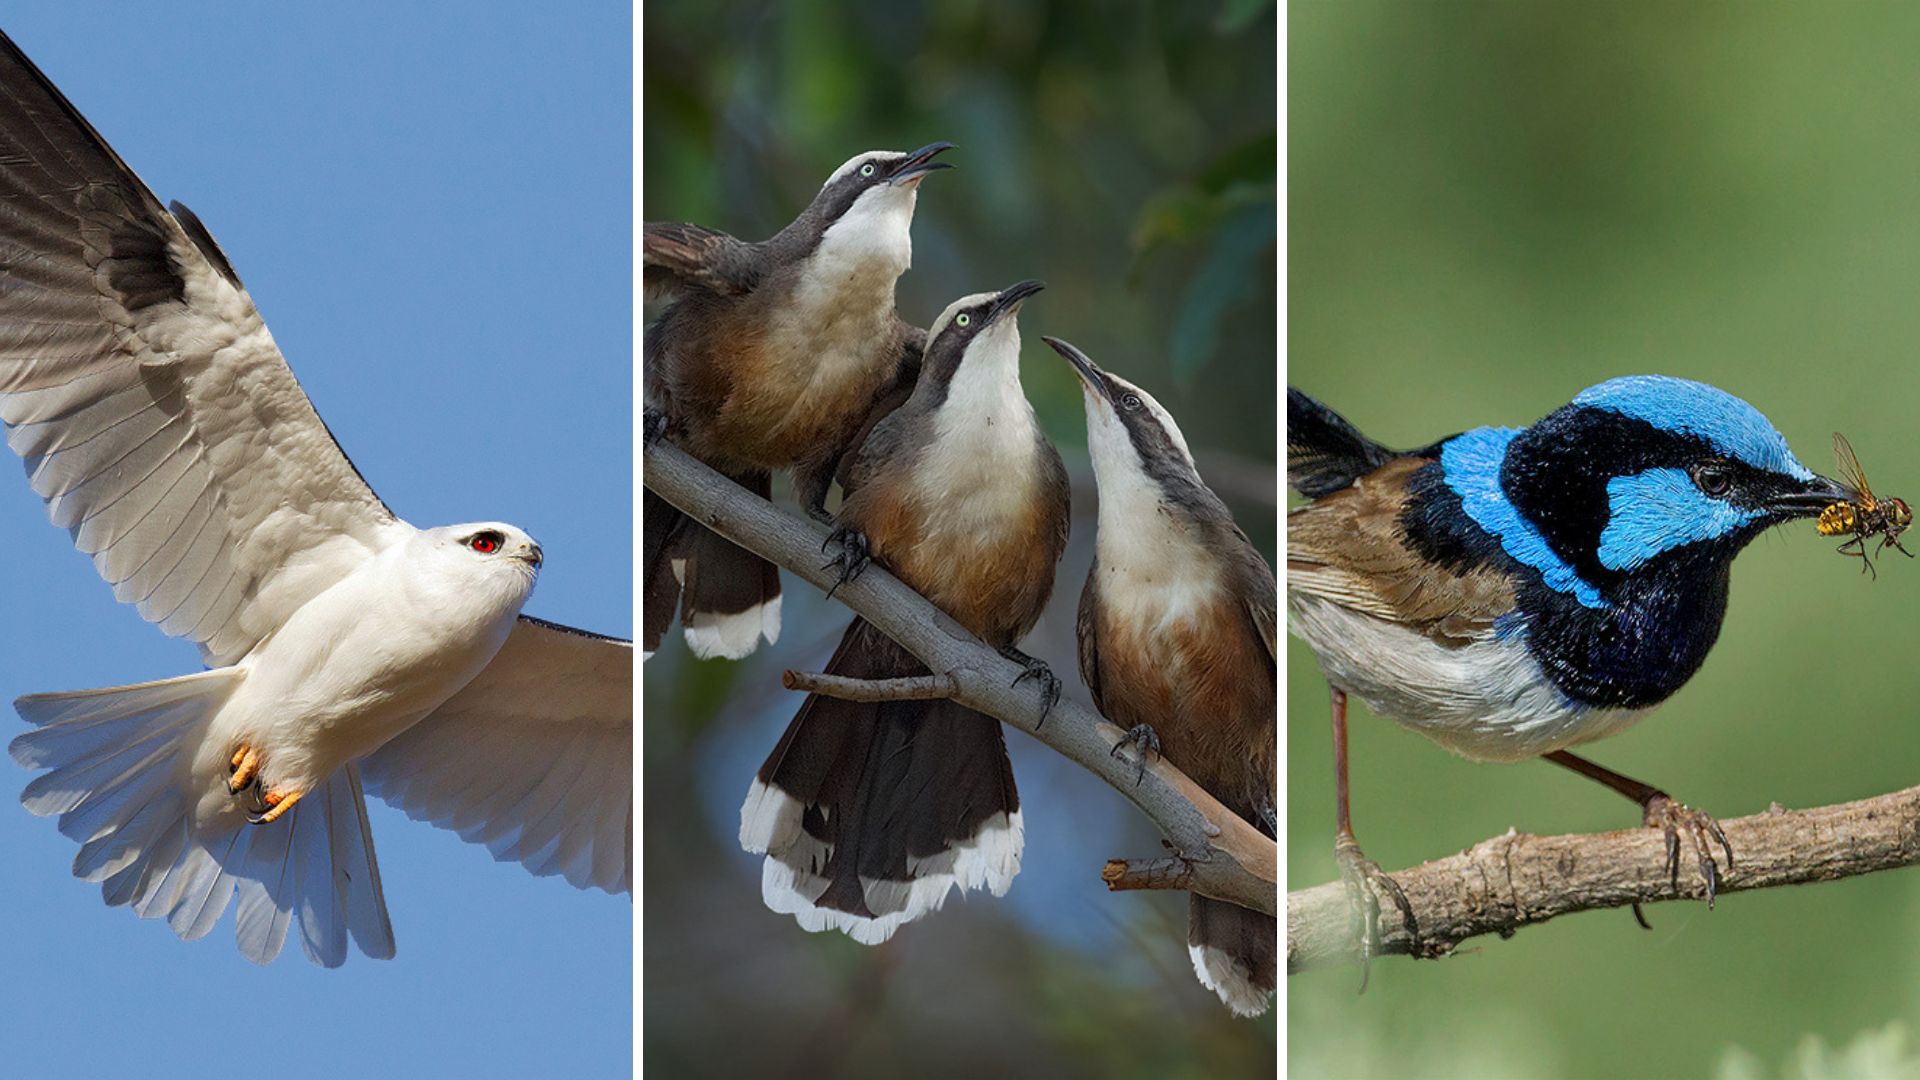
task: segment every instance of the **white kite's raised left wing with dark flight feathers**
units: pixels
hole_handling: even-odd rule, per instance
[[[113,596],[209,665],[399,532],[207,231],[6,35],[0,419]]]

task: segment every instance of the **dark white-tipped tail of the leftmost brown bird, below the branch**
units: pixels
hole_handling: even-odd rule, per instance
[[[768,473],[733,480],[760,498],[774,490]],[[639,513],[647,655],[660,648],[676,607],[687,648],[701,659],[739,659],[762,638],[780,640],[780,567],[722,540],[653,492],[645,492]]]

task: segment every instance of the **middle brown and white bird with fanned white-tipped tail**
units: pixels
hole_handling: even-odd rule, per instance
[[[870,555],[1058,694],[1014,648],[1046,607],[1069,517],[1060,454],[1020,386],[1018,311],[1039,288],[968,296],[933,323],[912,398],[851,463],[835,536],[849,577]],[[927,669],[854,619],[828,673]],[[1000,721],[954,701],[808,696],[741,805],[739,842],[766,853],[768,907],[864,944],[954,886],[1002,896],[1023,826]]]

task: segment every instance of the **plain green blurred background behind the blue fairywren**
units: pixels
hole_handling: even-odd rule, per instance
[[[1288,382],[1419,446],[1682,375],[1753,402],[1814,469],[1841,429],[1882,494],[1920,492],[1920,10],[1306,2],[1286,52]],[[1592,757],[1720,817],[1920,782],[1920,565],[1874,582],[1832,548],[1811,523],[1755,542],[1705,669]],[[1298,642],[1288,705],[1298,888],[1334,876],[1327,690]],[[1388,869],[1636,817],[1365,709],[1352,757]],[[1920,1074],[1920,874],[1647,915],[1382,961],[1363,997],[1350,969],[1294,976],[1294,1074]]]

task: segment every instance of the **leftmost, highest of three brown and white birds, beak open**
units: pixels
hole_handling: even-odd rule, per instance
[[[795,498],[828,521],[841,459],[912,390],[925,334],[893,286],[912,265],[920,183],[950,142],[856,154],[774,238],[701,225],[645,227],[645,286],[666,309],[647,327],[647,438],[668,438],[741,486]],[[680,609],[687,648],[739,659],[780,638],[780,571],[647,492],[645,630],[651,655]]]

